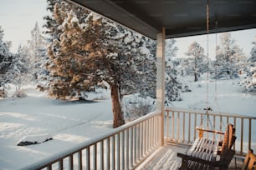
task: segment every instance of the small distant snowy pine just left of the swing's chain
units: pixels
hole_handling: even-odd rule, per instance
[[[203,71],[203,68],[205,68],[205,62],[203,61],[205,61],[206,58],[203,53],[204,49],[198,42],[192,42],[192,44],[187,49],[187,56],[193,56],[193,59],[191,60],[191,67],[195,82],[198,81],[198,77],[200,77],[202,72],[206,72],[205,70]]]

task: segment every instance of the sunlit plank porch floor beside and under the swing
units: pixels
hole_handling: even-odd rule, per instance
[[[178,169],[182,164],[182,158],[177,157],[177,153],[185,153],[187,151],[186,146],[165,144],[156,150],[155,153],[151,154],[144,163],[136,168],[136,170],[174,170]],[[241,169],[243,159],[238,156],[234,156],[228,169]]]

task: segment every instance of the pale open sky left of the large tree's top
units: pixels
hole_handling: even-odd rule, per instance
[[[19,44],[30,39],[36,22],[43,25],[46,7],[46,0],[0,0],[0,26],[4,40],[12,42],[12,52],[17,52]]]

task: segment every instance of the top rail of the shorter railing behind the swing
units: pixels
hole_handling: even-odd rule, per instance
[[[196,109],[184,109],[184,108],[178,108],[178,107],[166,107],[166,111],[168,112],[190,112],[190,113],[195,113],[195,114],[205,114],[206,111],[203,110],[196,110]],[[246,116],[242,114],[237,114],[237,113],[228,113],[228,112],[208,112],[209,115],[215,115],[215,116],[223,116],[223,117],[239,117],[239,118],[248,118],[248,119],[253,119],[256,120],[256,117],[251,117],[251,116]]]

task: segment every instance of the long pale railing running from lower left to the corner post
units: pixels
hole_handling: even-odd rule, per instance
[[[134,169],[161,146],[161,112],[152,112],[22,169]]]

